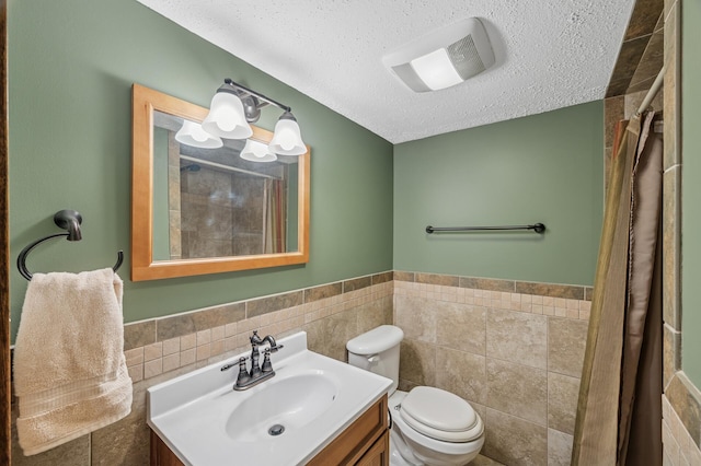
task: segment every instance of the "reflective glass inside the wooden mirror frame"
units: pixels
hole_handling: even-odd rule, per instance
[[[252,140],[184,144],[187,126],[199,128],[153,112],[154,260],[296,252],[298,158]]]

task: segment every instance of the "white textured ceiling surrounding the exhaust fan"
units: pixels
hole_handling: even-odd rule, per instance
[[[393,143],[604,98],[634,4],[138,1]],[[471,16],[485,25],[496,55],[484,73],[417,94],[383,67],[386,53]]]

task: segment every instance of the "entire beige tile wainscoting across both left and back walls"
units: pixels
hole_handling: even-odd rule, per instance
[[[146,465],[149,386],[246,350],[253,329],[306,330],[312,350],[345,361],[348,339],[394,323],[405,331],[402,388],[434,385],[469,399],[485,420],[485,456],[567,465],[590,295],[589,287],[388,271],[130,323],[131,413],[30,457],[14,434],[12,463]]]

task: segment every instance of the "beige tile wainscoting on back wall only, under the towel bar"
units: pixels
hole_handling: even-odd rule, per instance
[[[433,385],[485,422],[482,453],[568,465],[591,307],[588,287],[394,272],[400,388]]]

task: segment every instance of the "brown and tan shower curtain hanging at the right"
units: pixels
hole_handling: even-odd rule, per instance
[[[572,465],[662,465],[662,155],[654,114],[611,160]],[[621,125],[617,127],[620,129]]]

